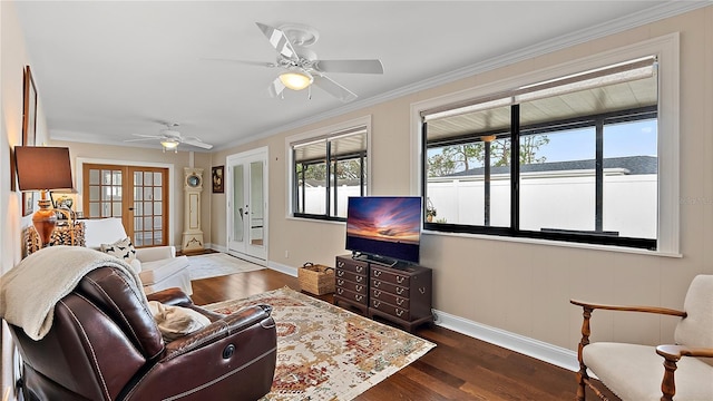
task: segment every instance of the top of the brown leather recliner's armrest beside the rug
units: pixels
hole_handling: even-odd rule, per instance
[[[272,307],[267,305],[254,305],[226,315],[203,330],[166,344],[163,360],[177,358],[206,344],[234,335],[256,323],[262,324],[265,329],[271,329],[275,325],[275,322],[270,316],[271,311]]]

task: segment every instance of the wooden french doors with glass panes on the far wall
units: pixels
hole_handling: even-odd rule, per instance
[[[119,217],[135,246],[168,243],[168,169],[84,164],[84,213]]]

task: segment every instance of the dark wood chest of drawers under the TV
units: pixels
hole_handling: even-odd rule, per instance
[[[388,267],[338,256],[335,273],[334,304],[348,303],[365,311],[369,317],[385,319],[409,332],[419,324],[433,322],[430,268],[419,265]]]

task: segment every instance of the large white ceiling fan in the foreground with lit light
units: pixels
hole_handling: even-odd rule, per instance
[[[275,62],[241,61],[253,66],[280,67],[285,71],[268,87],[272,97],[281,96],[285,88],[302,90],[312,84],[320,87],[335,98],[348,102],[356,95],[326,76],[326,72],[348,74],[383,74],[380,60],[321,60],[309,46],[319,39],[318,31],[307,26],[285,25],[273,28],[255,22],[265,35],[270,45],[277,51]]]

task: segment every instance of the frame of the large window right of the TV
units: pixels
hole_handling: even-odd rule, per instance
[[[486,237],[489,239],[544,243],[548,245],[579,246],[587,248],[602,248],[609,251],[657,254],[666,256],[680,256],[680,214],[678,214],[678,33],[649,39],[623,48],[592,55],[570,62],[557,65],[546,69],[524,74],[520,76],[486,84],[479,87],[465,89],[439,98],[428,99],[411,105],[412,140],[417,141],[419,155],[413,163],[413,170],[418,172],[418,190],[424,196],[427,185],[427,154],[424,124],[421,114],[427,110],[445,109],[450,105],[457,107],[473,99],[487,99],[491,96],[506,92],[512,88],[520,88],[550,79],[558,79],[580,71],[600,68],[608,65],[625,62],[654,55],[658,59],[658,209],[657,234],[655,250],[646,250],[641,246],[615,244],[599,241],[600,238],[577,235],[577,242],[563,241],[561,235],[541,234],[528,235],[527,233],[514,233],[507,228],[488,227],[487,231],[472,229],[478,226],[460,226],[455,224],[424,222],[426,234],[438,235],[466,235]],[[515,173],[515,172],[514,172]],[[514,179],[515,182],[515,179]],[[592,239],[592,241],[587,241]]]

